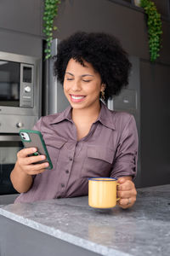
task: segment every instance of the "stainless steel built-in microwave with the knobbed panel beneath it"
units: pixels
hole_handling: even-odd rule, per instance
[[[41,113],[41,60],[0,52],[0,133],[31,129]]]

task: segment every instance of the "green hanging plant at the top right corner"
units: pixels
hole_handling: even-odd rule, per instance
[[[161,15],[157,12],[156,4],[150,0],[140,0],[140,7],[147,15],[147,26],[150,46],[150,61],[156,61],[161,49]]]

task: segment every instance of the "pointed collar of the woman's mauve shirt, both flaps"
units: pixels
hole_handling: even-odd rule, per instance
[[[116,128],[113,122],[113,112],[110,109],[108,109],[103,102],[100,102],[100,104],[101,108],[99,112],[99,117],[96,120],[96,122],[99,121],[102,125],[105,125],[106,127],[115,130]],[[59,115],[50,122],[50,125],[57,124],[63,121],[64,119],[67,119],[72,122],[71,106],[66,108],[63,112],[59,113]]]

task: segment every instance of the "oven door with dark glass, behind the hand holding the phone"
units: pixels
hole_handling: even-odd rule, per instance
[[[10,173],[21,148],[19,136],[0,134],[0,195],[17,193],[10,181]]]

